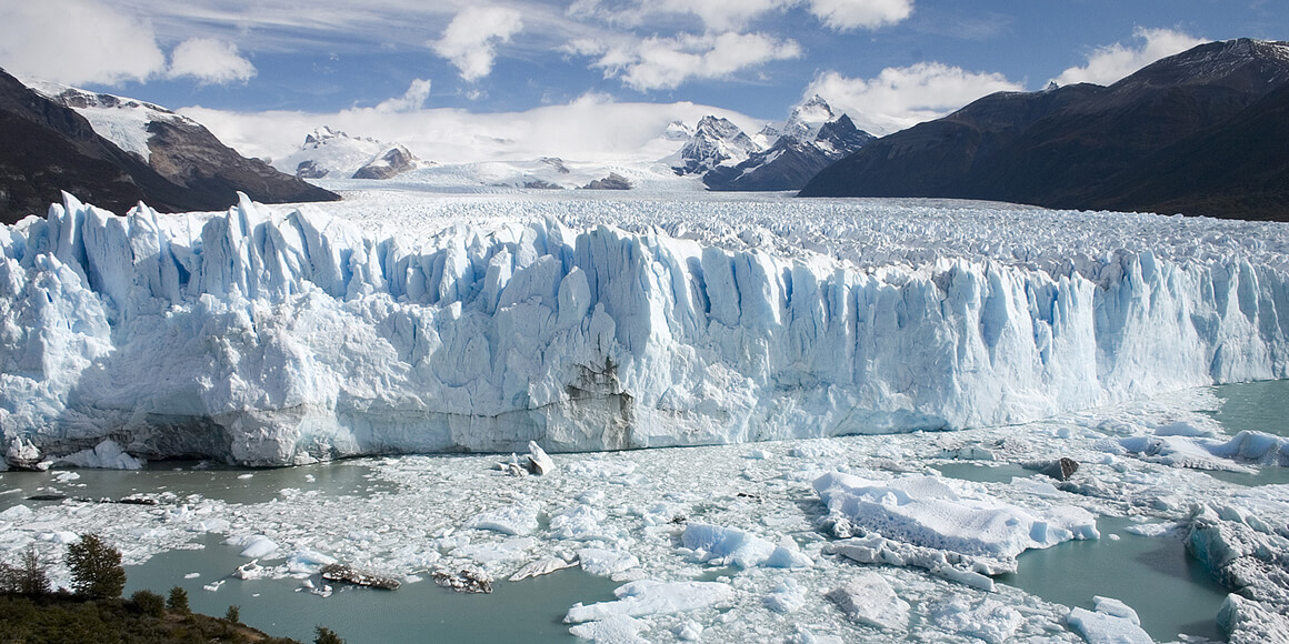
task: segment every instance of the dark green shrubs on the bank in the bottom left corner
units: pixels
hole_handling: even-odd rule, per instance
[[[228,607],[223,618],[193,613],[188,592],[179,586],[168,598],[141,590],[121,598],[125,568],[121,553],[98,535],[85,535],[67,547],[72,590],[53,591],[35,549],[19,565],[0,564],[0,644],[81,641],[129,643],[264,643],[296,640],[272,638],[240,622],[240,609]],[[343,643],[318,626],[317,643]]]

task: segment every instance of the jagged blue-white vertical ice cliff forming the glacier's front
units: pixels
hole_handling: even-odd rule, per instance
[[[1012,424],[1285,377],[1286,278],[1150,251],[856,268],[550,218],[375,238],[245,198],[68,196],[0,229],[0,428],[282,465]]]

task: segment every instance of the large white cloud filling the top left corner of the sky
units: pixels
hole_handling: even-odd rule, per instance
[[[143,81],[165,70],[152,26],[97,0],[0,3],[0,66],[67,85]]]

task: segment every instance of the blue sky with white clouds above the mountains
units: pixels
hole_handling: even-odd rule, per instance
[[[0,67],[178,109],[254,156],[324,124],[449,161],[626,151],[813,94],[882,135],[1234,37],[1289,39],[1289,3],[0,0]]]

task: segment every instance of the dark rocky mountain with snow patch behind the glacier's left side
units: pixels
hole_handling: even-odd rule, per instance
[[[124,213],[223,210],[336,194],[245,158],[161,107],[71,88],[28,88],[0,71],[0,220],[43,215],[67,191]],[[86,118],[85,113],[93,116]]]

